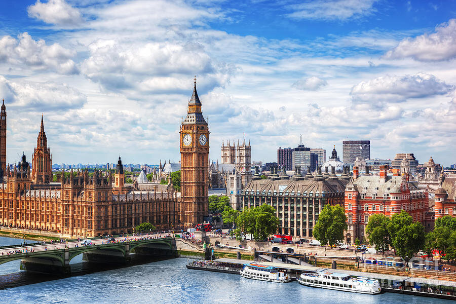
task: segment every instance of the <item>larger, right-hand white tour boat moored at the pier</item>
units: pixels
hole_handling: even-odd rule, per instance
[[[366,277],[352,278],[352,276],[336,273],[332,271],[322,271],[311,274],[301,274],[297,278],[299,284],[319,287],[326,289],[377,294],[382,291],[382,287],[375,279],[369,279]]]

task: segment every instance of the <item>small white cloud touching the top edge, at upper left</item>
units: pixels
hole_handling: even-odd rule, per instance
[[[65,0],[49,0],[46,3],[37,0],[27,8],[28,15],[49,24],[76,25],[82,22],[81,13]]]

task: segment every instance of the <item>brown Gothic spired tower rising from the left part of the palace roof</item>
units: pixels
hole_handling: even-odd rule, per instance
[[[52,182],[52,156],[48,148],[48,139],[44,131],[43,116],[41,116],[41,129],[36,139],[36,148],[32,160],[32,181],[35,184]]]

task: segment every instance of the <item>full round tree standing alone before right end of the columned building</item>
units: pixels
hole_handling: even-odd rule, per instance
[[[323,245],[334,246],[344,240],[344,231],[347,228],[347,216],[344,208],[339,205],[330,206],[328,204],[318,216],[313,236]]]

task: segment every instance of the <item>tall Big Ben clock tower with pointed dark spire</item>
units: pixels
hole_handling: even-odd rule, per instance
[[[180,127],[181,222],[193,227],[208,214],[209,126],[195,86]]]

